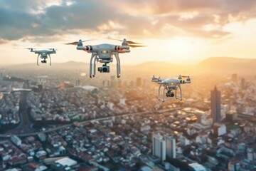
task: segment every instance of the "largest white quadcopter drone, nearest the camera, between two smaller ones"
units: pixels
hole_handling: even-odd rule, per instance
[[[92,40],[87,40],[92,41]],[[121,76],[121,67],[120,67],[120,59],[119,53],[129,53],[129,47],[136,48],[136,47],[144,47],[142,45],[137,45],[134,41],[127,41],[125,38],[124,40],[117,40],[122,41],[122,46],[117,46],[113,44],[99,44],[94,46],[83,46],[81,39],[79,41],[75,41],[73,43],[66,43],[70,45],[77,45],[78,50],[86,51],[87,53],[92,53],[90,58],[90,78],[95,77],[95,70],[96,64],[95,62],[104,63],[102,67],[97,68],[97,71],[100,73],[110,73],[110,66],[107,66],[107,63],[113,62],[113,55],[117,60],[117,78]],[[92,64],[93,62],[93,64]]]

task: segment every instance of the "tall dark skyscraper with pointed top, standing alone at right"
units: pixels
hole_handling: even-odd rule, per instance
[[[216,86],[214,90],[210,92],[210,111],[213,118],[213,123],[220,123],[220,91],[217,90]]]

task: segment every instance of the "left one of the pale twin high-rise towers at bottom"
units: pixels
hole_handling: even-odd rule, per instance
[[[153,135],[153,155],[159,157],[161,161],[166,160],[166,141],[162,135]]]

